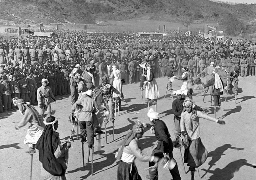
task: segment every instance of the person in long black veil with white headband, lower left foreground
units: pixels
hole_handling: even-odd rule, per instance
[[[66,180],[65,173],[69,159],[71,142],[61,145],[58,129],[58,120],[54,116],[44,121],[46,127],[39,138],[36,148],[39,151],[41,174],[44,180]]]

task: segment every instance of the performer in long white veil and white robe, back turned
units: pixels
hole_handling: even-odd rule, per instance
[[[112,66],[112,73],[110,75],[110,78],[113,79],[113,87],[118,90],[120,94],[112,92],[112,97],[114,100],[119,101],[119,108],[121,110],[121,98],[123,98],[123,92],[122,92],[122,81],[121,81],[121,72],[116,68],[115,65]]]

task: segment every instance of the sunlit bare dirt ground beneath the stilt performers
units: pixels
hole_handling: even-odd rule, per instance
[[[172,114],[172,98],[170,93],[166,92],[167,78],[156,79],[159,87],[161,97],[158,100],[157,111],[160,113],[162,119],[168,126],[171,138],[174,137],[173,126],[174,121]],[[205,79],[203,78],[205,82]],[[173,83],[173,89],[180,88],[182,82],[176,80]],[[206,162],[199,167],[199,173],[195,172],[195,179],[209,179],[209,180],[251,180],[256,177],[256,169],[252,165],[256,164],[255,156],[255,84],[256,78],[253,77],[239,77],[239,91],[237,101],[235,104],[235,96],[228,95],[227,102],[222,96],[224,106],[224,120],[226,125],[219,125],[217,123],[200,120],[201,139],[209,152],[209,157]],[[92,176],[91,162],[86,163],[85,169],[82,165],[82,150],[80,140],[72,142],[72,147],[69,149],[69,164],[66,171],[66,177],[70,180],[83,179],[116,179],[117,165],[114,158],[114,152],[119,147],[119,143],[124,136],[131,129],[136,119],[148,123],[146,116],[147,105],[141,104],[141,92],[139,91],[139,84],[130,84],[123,86],[123,94],[125,99],[122,100],[122,108],[120,115],[116,117],[115,123],[115,139],[112,140],[112,123],[107,124],[107,139],[102,136],[100,140],[95,141],[94,145],[94,169]],[[144,96],[144,94],[143,94]],[[176,98],[176,97],[174,97]],[[145,102],[145,98],[143,99]],[[210,106],[210,96],[205,97],[203,103],[202,90],[195,90],[193,100],[197,105]],[[70,112],[70,98],[68,96],[57,97],[57,102],[52,103],[54,116],[59,119],[59,129],[61,142],[67,141],[70,136],[72,124],[68,122],[68,115]],[[153,107],[153,106],[152,106]],[[211,108],[213,111],[213,108]],[[220,117],[221,111],[217,112],[217,117]],[[17,112],[1,113],[0,114],[0,179],[5,180],[26,180],[30,179],[30,155],[25,154],[24,151],[28,148],[23,144],[28,125],[15,130],[14,126],[18,123],[22,115]],[[210,114],[214,117],[214,114]],[[156,141],[154,135],[147,131],[143,138],[139,140],[140,146],[144,153],[151,153],[154,142]],[[87,162],[88,148],[84,144],[85,161]],[[184,149],[182,149],[182,154]],[[190,179],[190,173],[185,173],[182,168],[181,158],[178,149],[174,149],[174,158],[177,161],[179,172],[182,179]],[[148,171],[148,163],[136,160],[137,168],[142,179],[146,179]],[[41,163],[38,160],[38,151],[33,156],[33,171],[32,179],[42,179],[40,172]],[[188,167],[185,165],[186,171]],[[172,179],[168,170],[159,167],[159,179]]]

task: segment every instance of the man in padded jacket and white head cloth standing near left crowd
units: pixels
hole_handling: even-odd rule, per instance
[[[47,86],[48,80],[42,79],[42,86],[37,89],[37,102],[38,102],[38,112],[40,115],[44,116],[46,111],[46,117],[51,116],[51,102],[55,102],[55,97],[51,91],[51,88]]]

